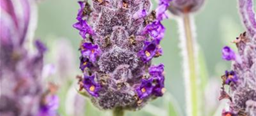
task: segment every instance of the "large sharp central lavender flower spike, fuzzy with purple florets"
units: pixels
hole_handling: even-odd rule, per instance
[[[162,55],[161,20],[170,1],[160,0],[153,11],[150,0],[78,2],[73,27],[83,38],[80,91],[100,109],[137,109],[164,94],[164,65],[151,65],[151,60]]]

